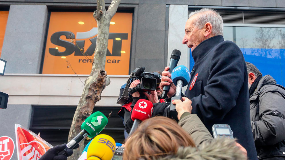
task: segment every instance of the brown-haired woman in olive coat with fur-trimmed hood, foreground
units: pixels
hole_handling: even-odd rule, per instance
[[[247,159],[245,149],[240,148],[235,140],[214,140],[198,116],[190,112],[180,114],[178,124],[170,118],[161,116],[143,121],[126,141],[123,159]]]

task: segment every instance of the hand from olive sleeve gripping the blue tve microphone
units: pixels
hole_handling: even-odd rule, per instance
[[[181,115],[184,112],[192,112],[192,101],[186,97],[182,97],[183,102],[180,99],[175,99],[172,101],[172,104],[175,104],[175,109],[178,113],[177,118],[180,120]]]

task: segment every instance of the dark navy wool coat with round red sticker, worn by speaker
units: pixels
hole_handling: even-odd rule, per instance
[[[233,42],[214,36],[201,42],[192,56],[195,65],[185,93],[192,100],[192,113],[198,115],[211,134],[213,124],[229,124],[249,159],[257,159],[242,52]]]

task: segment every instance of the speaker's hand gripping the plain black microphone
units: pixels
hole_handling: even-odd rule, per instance
[[[171,85],[169,91],[167,92],[167,97],[172,97],[176,92],[176,86],[172,82],[171,74],[168,72],[169,67],[165,67],[164,71],[162,72],[161,82],[159,84],[160,88],[163,89],[165,85]],[[168,76],[168,77],[166,77]]]

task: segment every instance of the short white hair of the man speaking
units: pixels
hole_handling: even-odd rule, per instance
[[[213,35],[223,36],[223,29],[224,29],[223,19],[218,12],[210,8],[202,8],[198,11],[191,12],[189,14],[189,18],[198,13],[202,14],[199,14],[197,19],[195,20],[194,22],[195,27],[202,29],[207,22],[210,22],[213,26],[212,28]]]

